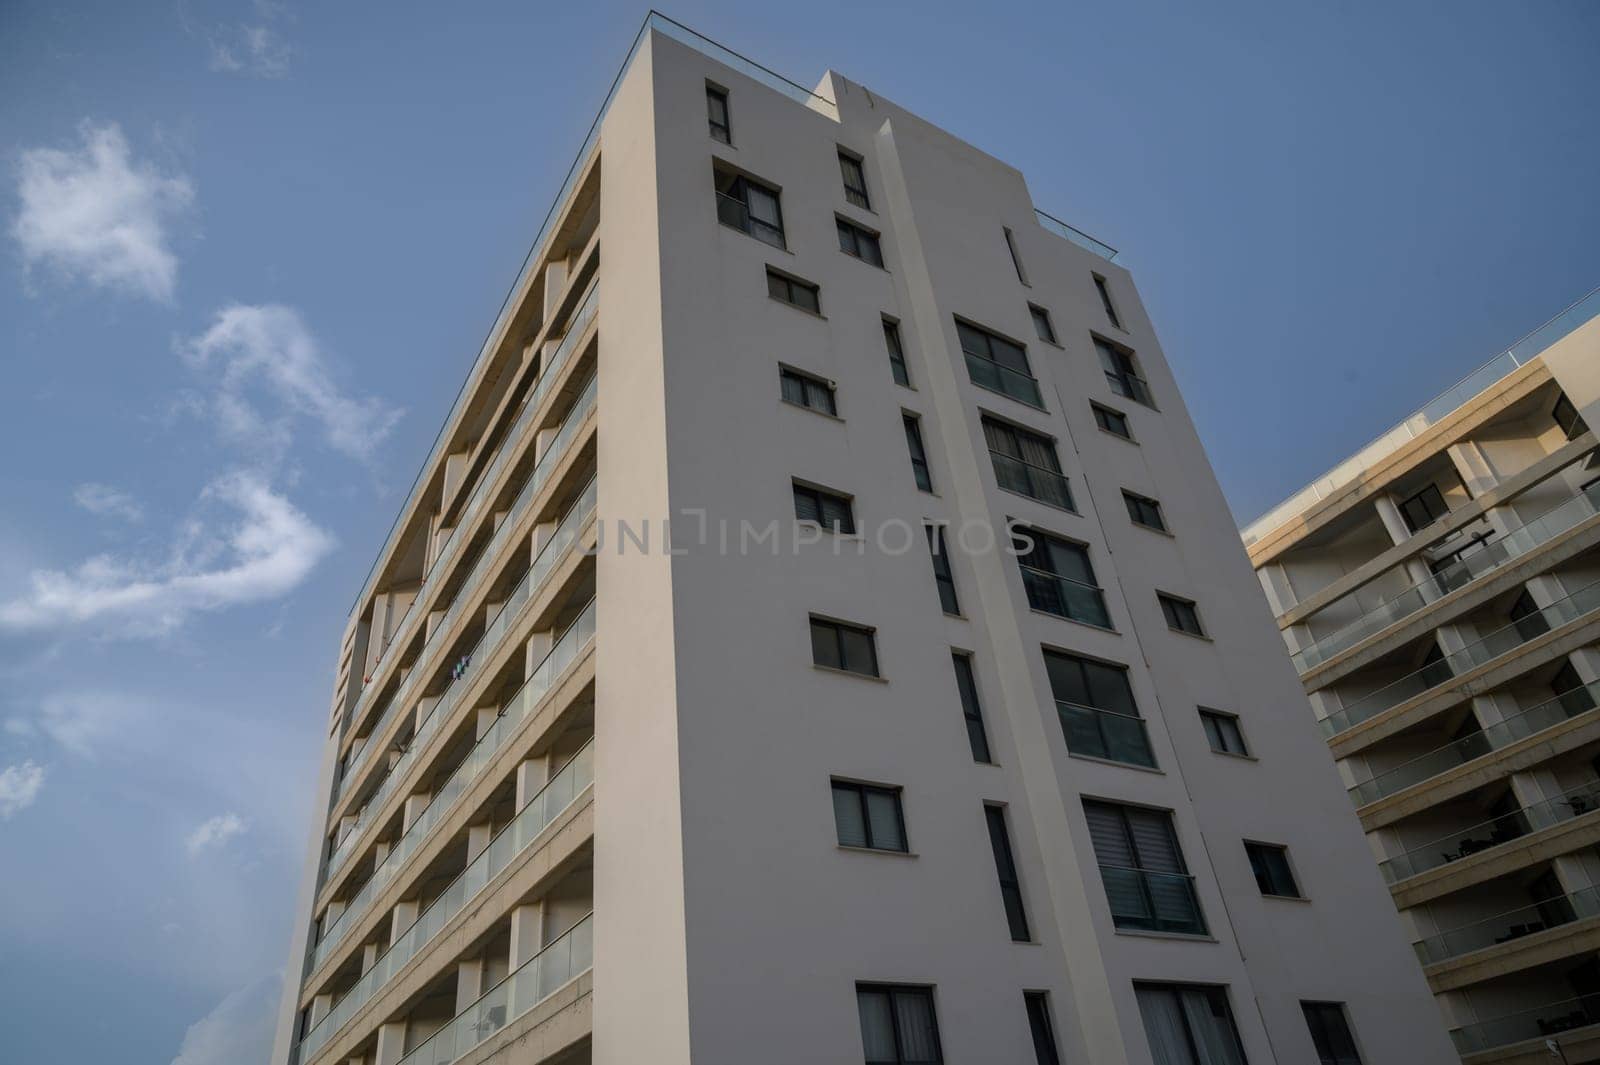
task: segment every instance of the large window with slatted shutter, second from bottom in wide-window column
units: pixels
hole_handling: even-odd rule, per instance
[[[1144,932],[1206,934],[1171,811],[1083,800],[1083,816],[1112,924]]]

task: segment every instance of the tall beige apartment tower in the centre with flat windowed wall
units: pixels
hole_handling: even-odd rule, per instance
[[[1453,1060],[1114,256],[651,16],[342,636],[275,1065]]]

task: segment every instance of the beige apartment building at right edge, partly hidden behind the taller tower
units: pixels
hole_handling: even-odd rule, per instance
[[[1245,529],[1470,1065],[1600,1062],[1600,291]]]

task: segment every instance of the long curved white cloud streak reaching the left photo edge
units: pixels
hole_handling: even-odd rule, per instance
[[[160,635],[197,611],[280,598],[333,550],[328,532],[254,473],[213,481],[202,504],[232,520],[195,517],[163,563],[98,555],[72,571],[37,569],[24,595],[0,603],[0,628],[104,622],[110,635]]]

